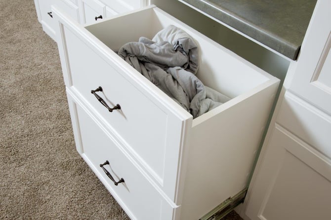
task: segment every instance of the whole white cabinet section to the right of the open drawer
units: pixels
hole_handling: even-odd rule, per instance
[[[331,2],[317,1],[248,188],[250,220],[330,219]]]

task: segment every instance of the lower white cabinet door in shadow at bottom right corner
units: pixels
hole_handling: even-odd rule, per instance
[[[251,191],[251,220],[330,219],[331,160],[276,124]]]

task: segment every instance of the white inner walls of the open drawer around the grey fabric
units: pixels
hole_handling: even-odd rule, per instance
[[[152,39],[168,25],[177,26],[196,41],[200,52],[197,76],[205,85],[216,91],[234,98],[270,79],[268,73],[157,7],[129,13],[85,28],[113,51],[118,51],[127,42],[138,41],[139,37]]]

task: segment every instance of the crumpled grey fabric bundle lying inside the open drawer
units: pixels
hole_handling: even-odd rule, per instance
[[[196,118],[227,101],[194,74],[199,68],[198,47],[183,30],[168,26],[152,40],[124,44],[119,52],[127,63]]]

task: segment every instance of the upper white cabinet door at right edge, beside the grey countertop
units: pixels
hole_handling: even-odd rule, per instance
[[[319,0],[302,45],[290,91],[331,114],[331,1]]]

